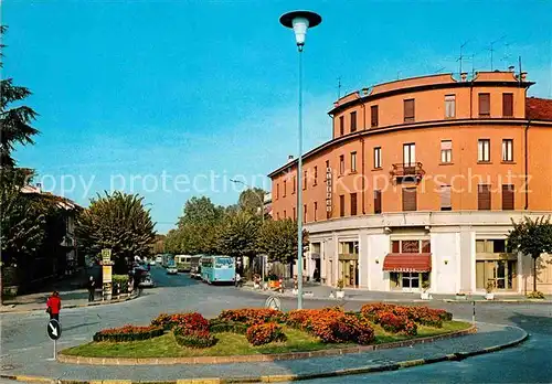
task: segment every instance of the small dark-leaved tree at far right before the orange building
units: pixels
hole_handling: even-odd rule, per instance
[[[543,253],[552,253],[552,223],[550,216],[534,221],[524,217],[519,223],[512,220],[513,230],[508,235],[508,244],[513,252],[520,252],[533,259],[533,291],[537,291],[537,260]]]

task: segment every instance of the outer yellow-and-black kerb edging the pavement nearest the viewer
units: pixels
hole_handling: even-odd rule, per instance
[[[516,346],[523,341],[526,341],[529,334],[519,327],[511,327],[523,331],[523,335],[517,340],[505,344],[492,345],[484,348],[481,350],[471,352],[456,352],[444,354],[440,356],[432,359],[417,359],[407,360],[392,364],[381,364],[381,365],[368,365],[354,369],[338,370],[330,372],[320,372],[311,374],[289,374],[289,375],[265,375],[265,376],[245,376],[245,377],[204,377],[204,378],[184,378],[184,380],[171,380],[171,381],[158,381],[157,384],[236,384],[236,383],[278,383],[278,382],[293,382],[293,381],[305,381],[315,380],[323,377],[339,377],[354,374],[365,374],[375,372],[386,372],[386,371],[397,371],[403,369],[408,369],[413,366],[434,364],[445,361],[461,361],[464,359],[476,356],[486,353],[492,353],[508,348]],[[83,381],[83,380],[55,380],[42,376],[25,376],[25,375],[0,375],[0,378],[30,382],[30,383],[55,383],[55,384],[138,384],[148,383],[145,382],[134,382],[131,380],[104,380],[104,381]]]

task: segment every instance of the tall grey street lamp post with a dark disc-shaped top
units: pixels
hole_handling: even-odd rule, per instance
[[[299,52],[299,156],[297,160],[297,308],[302,309],[302,49],[309,28],[322,22],[322,18],[310,11],[293,11],[279,18],[282,25],[295,32],[295,41]]]

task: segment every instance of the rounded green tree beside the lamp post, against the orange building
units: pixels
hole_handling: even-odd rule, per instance
[[[304,250],[308,247],[308,232],[302,232]],[[297,222],[291,218],[265,221],[259,231],[258,248],[268,262],[291,264],[297,258]]]

